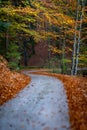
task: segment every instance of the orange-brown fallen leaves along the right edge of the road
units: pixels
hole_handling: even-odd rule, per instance
[[[60,79],[65,87],[72,130],[87,130],[87,78],[48,72],[30,72]]]

